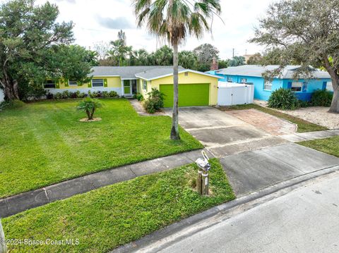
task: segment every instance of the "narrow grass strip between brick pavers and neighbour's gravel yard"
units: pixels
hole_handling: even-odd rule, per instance
[[[239,104],[235,106],[222,106],[219,108],[221,111],[234,111],[234,110],[247,110],[247,109],[256,109],[258,111],[263,111],[277,118],[283,118],[286,121],[290,121],[298,125],[297,132],[314,132],[321,130],[328,130],[328,128],[321,125],[316,125],[309,121],[304,121],[302,118],[297,118],[286,113],[281,113],[280,111],[275,111],[267,107],[258,106],[257,104]]]

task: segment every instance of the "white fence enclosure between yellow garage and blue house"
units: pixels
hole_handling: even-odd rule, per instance
[[[218,106],[252,104],[253,100],[254,85],[234,82],[218,83]]]

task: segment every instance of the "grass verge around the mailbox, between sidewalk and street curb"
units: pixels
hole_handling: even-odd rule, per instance
[[[194,164],[145,175],[3,219],[6,239],[78,239],[79,245],[9,245],[11,252],[108,252],[171,223],[234,199],[222,166],[211,159],[210,189],[192,188]]]

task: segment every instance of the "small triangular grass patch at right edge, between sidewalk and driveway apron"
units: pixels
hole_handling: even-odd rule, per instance
[[[321,140],[298,142],[298,144],[339,157],[339,136],[329,137]]]

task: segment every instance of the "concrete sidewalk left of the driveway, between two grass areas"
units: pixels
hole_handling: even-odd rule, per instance
[[[206,152],[208,151],[206,150]],[[209,152],[208,155],[213,157]],[[90,190],[95,190],[114,183],[130,180],[141,175],[148,175],[184,166],[193,163],[199,157],[201,157],[201,149],[121,166],[119,168],[112,168],[50,185],[38,190],[23,192],[19,195],[0,200],[0,217],[4,218],[13,214],[18,214],[27,209],[42,206],[60,199],[66,199],[73,195],[89,192]]]

